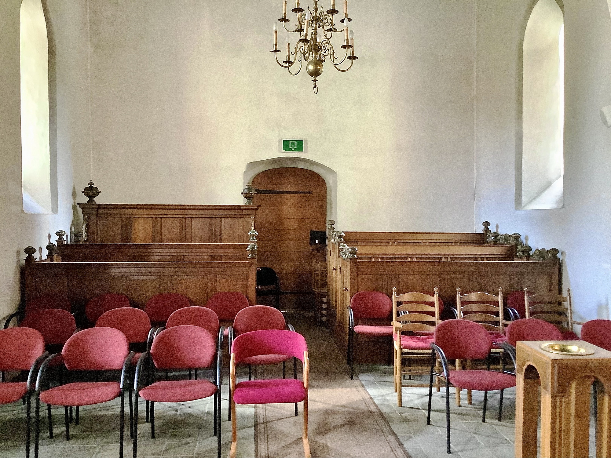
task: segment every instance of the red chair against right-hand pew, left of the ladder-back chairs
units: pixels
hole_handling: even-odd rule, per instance
[[[392,301],[390,297],[379,291],[359,291],[350,299],[348,306],[348,355],[346,360],[350,366],[350,378],[354,377],[354,337],[367,335],[375,337],[391,337],[390,325]],[[371,324],[385,320],[389,324]],[[362,324],[361,324],[362,323]]]

